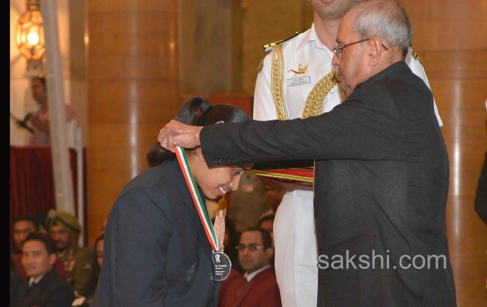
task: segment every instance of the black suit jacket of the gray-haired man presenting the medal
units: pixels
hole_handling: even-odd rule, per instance
[[[200,140],[210,166],[316,160],[319,259],[357,255],[351,261],[357,269],[321,264],[319,306],[456,305],[445,227],[447,150],[432,93],[404,61],[359,84],[329,113],[205,126]],[[374,254],[384,266],[389,256],[390,269],[377,269],[378,257],[372,269]],[[369,269],[358,267],[362,255]],[[402,255],[441,256],[440,269],[408,269]]]

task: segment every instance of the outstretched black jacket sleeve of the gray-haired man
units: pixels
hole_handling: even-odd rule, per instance
[[[387,91],[367,87],[331,112],[304,120],[205,126],[200,133],[202,152],[210,166],[296,159],[399,160],[397,106]]]

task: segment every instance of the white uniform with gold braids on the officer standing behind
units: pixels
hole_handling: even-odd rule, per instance
[[[265,49],[272,52],[257,69],[254,120],[306,118],[329,112],[341,103],[343,96],[332,72],[334,53],[321,43],[314,24]],[[429,87],[411,48],[405,61]],[[434,111],[442,126],[436,103]],[[274,245],[282,306],[316,306],[318,248],[311,187],[287,189],[274,220]]]

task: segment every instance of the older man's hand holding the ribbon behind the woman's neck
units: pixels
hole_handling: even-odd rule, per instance
[[[201,145],[199,131],[202,128],[202,126],[191,126],[171,120],[164,128],[160,129],[157,140],[160,146],[171,152],[174,152],[174,146],[194,148]]]

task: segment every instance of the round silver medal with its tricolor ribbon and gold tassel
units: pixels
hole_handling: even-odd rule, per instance
[[[215,228],[213,228],[210,215],[208,214],[206,206],[203,204],[201,195],[196,186],[196,182],[194,181],[193,174],[189,168],[185,149],[179,146],[174,146],[174,151],[176,153],[177,161],[179,162],[179,166],[185,178],[186,184],[188,185],[191,193],[191,197],[193,198],[199,219],[201,220],[201,224],[205,229],[208,241],[213,249],[212,260],[215,270],[215,280],[225,280],[230,275],[230,271],[232,269],[232,262],[230,261],[230,258],[223,252],[223,241],[225,237],[225,214],[227,211],[225,194],[224,198],[218,202],[218,211],[215,217]]]

